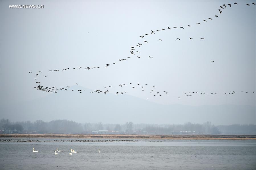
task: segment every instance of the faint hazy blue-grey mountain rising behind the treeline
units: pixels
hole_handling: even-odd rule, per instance
[[[71,89],[72,87],[70,87]],[[85,89],[76,86],[75,89]],[[79,123],[156,123],[185,122],[214,125],[255,124],[255,107],[250,105],[162,105],[126,94],[95,94],[85,89],[61,91],[44,98],[1,106],[1,119],[11,121],[73,120]]]

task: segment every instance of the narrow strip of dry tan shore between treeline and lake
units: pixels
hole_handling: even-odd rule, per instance
[[[141,138],[198,140],[256,140],[256,135],[134,135],[134,134],[0,134],[1,138]]]

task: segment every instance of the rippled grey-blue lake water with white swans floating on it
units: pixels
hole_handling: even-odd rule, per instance
[[[71,142],[69,140],[77,139],[33,138],[45,142],[3,142],[3,139],[6,138],[1,138],[0,142],[1,170],[256,169],[256,140],[134,139],[139,141],[133,142],[95,139],[96,142]],[[32,148],[39,152],[33,153]],[[63,152],[54,155],[56,148]],[[70,149],[78,153],[69,155]]]

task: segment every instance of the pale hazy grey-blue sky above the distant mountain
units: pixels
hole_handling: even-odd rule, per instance
[[[38,81],[49,87],[79,83],[84,88],[104,90],[111,85],[112,94],[126,91],[126,95],[149,98],[160,104],[255,107],[252,93],[255,92],[255,5],[252,2],[255,3],[1,1],[1,107],[15,107],[24,101],[58,95],[33,88],[38,71],[42,71]],[[219,14],[220,5],[228,3],[231,7],[227,5]],[[9,8],[15,4],[44,5],[44,9]],[[161,31],[150,34],[157,29]],[[141,35],[145,37],[140,38]],[[136,47],[138,43],[142,45],[134,51],[140,51],[139,55],[131,55],[130,46]],[[104,67],[114,62],[115,65]],[[84,69],[89,66],[100,68]],[[61,71],[73,67],[76,69]],[[55,69],[60,71],[49,72]],[[135,88],[128,86],[129,82]],[[118,86],[123,83],[127,86]],[[137,83],[144,84],[144,91],[135,86]],[[152,86],[154,92],[168,94],[153,97],[149,94]],[[232,91],[235,94],[224,94]],[[217,94],[186,97],[184,92]],[[82,95],[86,98],[88,93]]]

